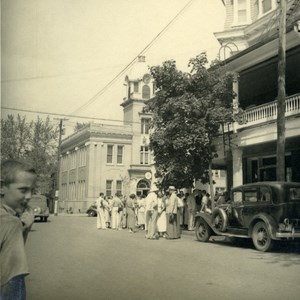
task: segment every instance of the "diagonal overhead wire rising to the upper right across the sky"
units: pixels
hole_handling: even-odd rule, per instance
[[[192,4],[194,0],[190,0],[173,18],[172,20],[150,41],[149,44],[147,44],[147,46],[140,51],[140,53],[138,55],[136,55],[130,62],[129,64],[126,65],[125,68],[123,68],[109,83],[107,83],[97,94],[95,94],[92,98],[90,98],[86,103],[84,103],[82,106],[80,106],[79,108],[77,108],[75,111],[73,111],[71,113],[71,115],[78,113],[80,110],[86,108],[87,106],[91,105],[96,99],[98,99],[99,96],[103,95],[106,90],[115,83],[115,81],[117,79],[119,79],[119,77],[126,71],[128,70],[128,68],[130,68],[134,62],[136,61],[136,59],[142,55],[145,54],[147,52],[147,50],[149,50],[151,48],[151,46],[163,35],[163,33],[165,33],[168,28],[175,22],[175,20],[181,15],[183,14],[183,12]]]

